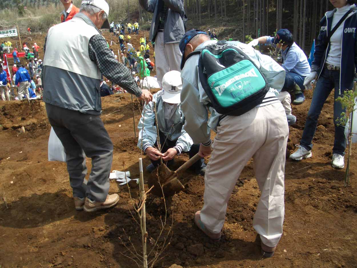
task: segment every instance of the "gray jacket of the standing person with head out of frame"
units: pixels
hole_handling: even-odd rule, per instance
[[[185,34],[185,26],[183,24],[185,10],[183,9],[183,0],[139,0],[142,8],[154,13],[151,21],[149,39],[151,42],[155,42],[160,19],[160,10],[158,10],[159,1],[164,1],[165,5],[169,7],[164,26],[164,43],[179,43]]]

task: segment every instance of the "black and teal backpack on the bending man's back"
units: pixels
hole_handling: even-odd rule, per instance
[[[267,80],[242,50],[222,41],[188,57],[195,54],[200,54],[201,85],[210,98],[209,105],[218,113],[242,115],[262,103],[269,90]]]

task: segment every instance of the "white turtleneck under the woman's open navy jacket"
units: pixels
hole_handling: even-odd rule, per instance
[[[343,15],[346,14],[348,10],[350,10],[351,5],[345,5],[343,8],[338,8],[333,14],[331,30],[336,26],[336,24],[341,20]],[[331,64],[333,66],[341,67],[341,47],[342,47],[342,32],[343,32],[343,24],[337,28],[335,33],[331,36],[330,39],[330,51],[328,52],[326,63]]]

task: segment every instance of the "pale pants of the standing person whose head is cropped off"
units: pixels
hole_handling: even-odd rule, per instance
[[[155,65],[157,82],[161,88],[161,81],[168,71],[181,72],[182,53],[178,43],[164,44],[164,33],[157,33],[155,38]]]

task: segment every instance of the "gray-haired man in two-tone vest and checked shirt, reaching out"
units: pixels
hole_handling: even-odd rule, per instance
[[[44,46],[42,81],[47,116],[65,148],[75,208],[86,212],[119,201],[117,194],[108,194],[113,144],[100,118],[102,75],[139,100],[152,100],[151,93],[141,90],[129,70],[114,58],[100,34],[99,29],[109,29],[108,15],[105,0],[82,1],[72,20],[50,28]],[[92,159],[87,184],[86,156]]]

